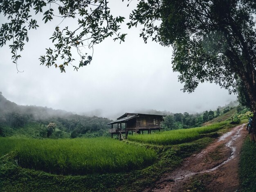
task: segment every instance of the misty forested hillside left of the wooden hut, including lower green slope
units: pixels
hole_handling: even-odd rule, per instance
[[[48,107],[22,106],[0,94],[0,134],[11,136],[22,128],[33,127],[38,133],[34,137],[102,136],[108,130],[110,119],[88,117]],[[49,123],[54,123],[49,126]],[[20,130],[19,130],[20,129]],[[15,131],[13,131],[15,130]],[[56,133],[57,132],[57,133]]]

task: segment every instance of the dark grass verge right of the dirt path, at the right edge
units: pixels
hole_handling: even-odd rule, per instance
[[[243,192],[256,191],[256,144],[245,139],[240,154],[239,179],[240,190]]]

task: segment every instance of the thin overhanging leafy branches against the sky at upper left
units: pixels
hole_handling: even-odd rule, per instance
[[[120,23],[124,17],[114,17],[110,13],[107,0],[2,0],[0,13],[8,20],[0,29],[0,46],[8,41],[13,63],[28,42],[28,31],[39,27],[37,18],[47,23],[55,18],[73,18],[77,20],[77,28],[61,29],[57,26],[52,34],[53,47],[46,49],[46,54],[40,56],[40,65],[59,67],[65,72],[65,67],[72,65],[74,70],[90,64],[92,55],[83,53],[84,47],[91,49],[93,45],[102,42],[107,37],[124,41],[126,34],[120,33]],[[72,51],[79,54],[79,65],[74,64]],[[59,63],[62,63],[59,65]]]

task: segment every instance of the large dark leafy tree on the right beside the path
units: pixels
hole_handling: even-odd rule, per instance
[[[204,81],[238,93],[256,122],[255,0],[141,0],[129,26],[173,47],[173,70],[184,91]]]

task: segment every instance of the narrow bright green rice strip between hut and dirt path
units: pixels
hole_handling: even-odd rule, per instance
[[[199,139],[200,134],[207,134],[215,132],[223,128],[228,122],[216,123],[204,127],[195,127],[190,129],[177,129],[164,132],[156,132],[153,134],[134,134],[129,136],[130,141],[137,141],[141,143],[150,143],[156,145],[173,145],[186,143]]]

